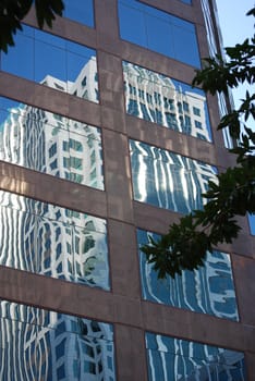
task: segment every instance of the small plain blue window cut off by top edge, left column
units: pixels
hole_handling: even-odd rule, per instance
[[[64,0],[64,17],[94,27],[93,0]]]

